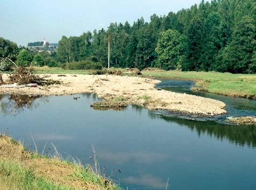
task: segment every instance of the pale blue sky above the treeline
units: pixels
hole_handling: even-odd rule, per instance
[[[111,22],[152,14],[167,15],[187,9],[201,0],[0,0],[0,37],[27,45],[29,42],[58,42],[63,35],[107,28]]]

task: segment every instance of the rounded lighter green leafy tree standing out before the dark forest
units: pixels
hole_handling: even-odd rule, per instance
[[[162,33],[155,49],[160,67],[164,70],[181,69],[187,58],[187,50],[187,37],[171,29]]]

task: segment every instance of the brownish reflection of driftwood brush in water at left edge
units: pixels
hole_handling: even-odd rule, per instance
[[[1,112],[4,113],[4,115],[17,116],[26,109],[32,110],[33,108],[37,108],[38,104],[34,104],[33,102],[39,97],[41,96],[18,94],[0,95]]]

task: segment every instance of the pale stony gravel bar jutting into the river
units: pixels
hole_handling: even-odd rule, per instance
[[[41,74],[40,77],[46,75]],[[95,93],[106,101],[125,101],[126,104],[144,105],[150,110],[169,110],[190,115],[216,116],[226,113],[221,101],[195,95],[180,94],[154,88],[159,80],[117,75],[47,74],[61,85],[36,88],[0,88],[0,94],[65,95]],[[8,79],[8,74],[3,74]]]

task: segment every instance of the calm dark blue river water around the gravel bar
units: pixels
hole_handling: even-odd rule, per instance
[[[191,93],[191,82],[183,82],[163,80],[159,87]],[[199,95],[221,98],[227,116],[256,115],[255,101]],[[0,96],[0,131],[31,148],[32,134],[39,151],[47,142],[47,154],[53,154],[52,142],[63,157],[83,163],[93,164],[94,145],[101,168],[123,188],[165,189],[169,178],[168,189],[256,189],[256,127],[182,119],[132,105],[96,111],[90,108],[95,95],[75,96]]]

